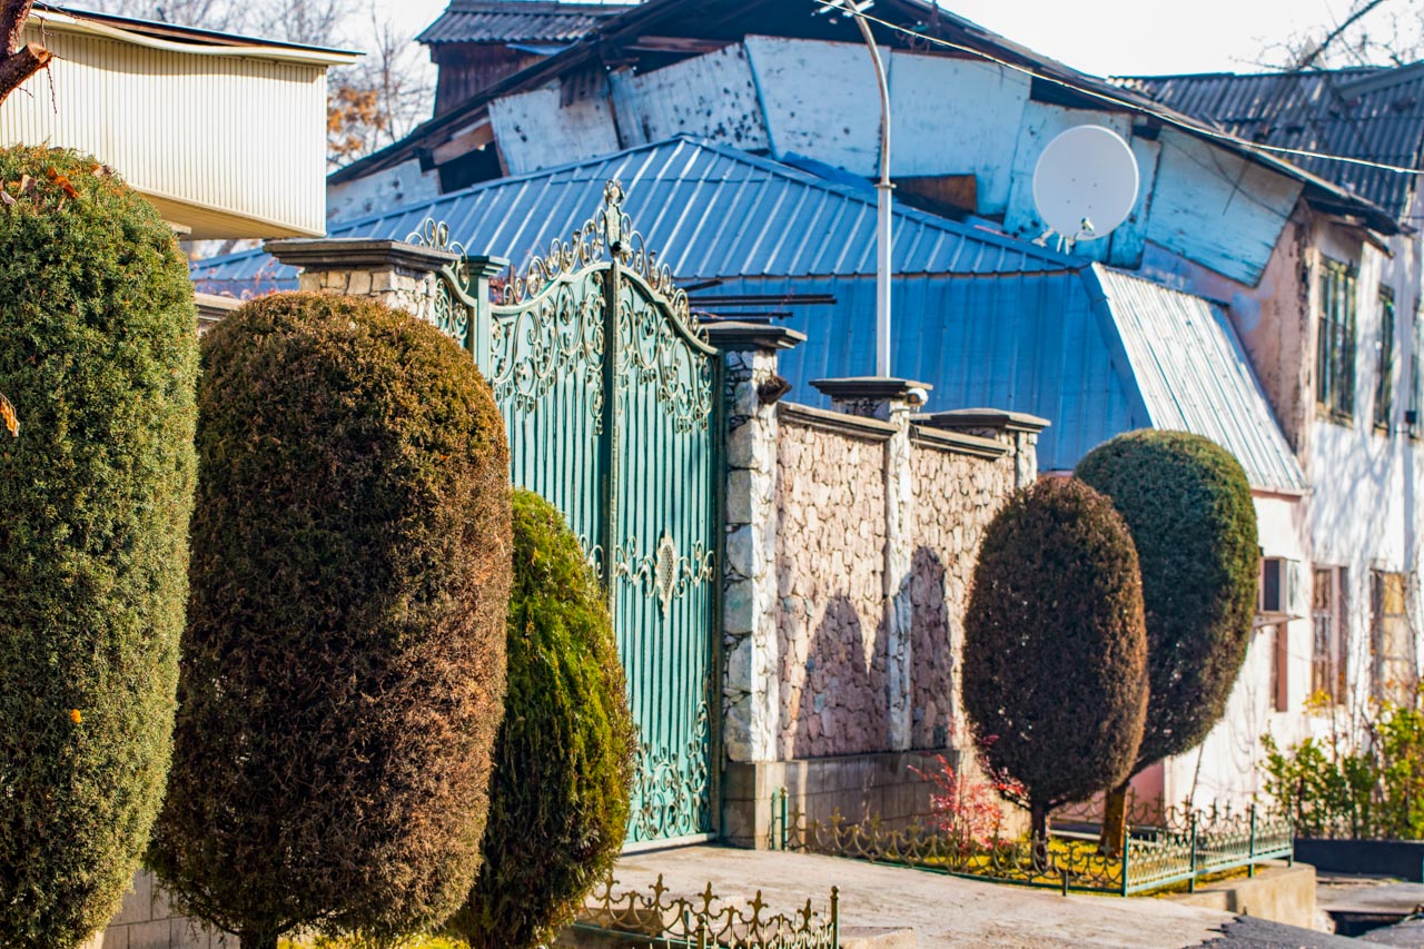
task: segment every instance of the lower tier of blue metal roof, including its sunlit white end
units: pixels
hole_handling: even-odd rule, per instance
[[[718,294],[830,294],[797,306],[805,343],[780,355],[797,402],[810,380],[874,370],[874,279],[728,281]],[[1141,427],[1202,435],[1256,487],[1299,492],[1296,463],[1226,315],[1206,301],[1099,265],[1079,271],[894,281],[894,373],[930,383],[927,410],[993,406],[1052,422],[1042,470],[1071,470]]]

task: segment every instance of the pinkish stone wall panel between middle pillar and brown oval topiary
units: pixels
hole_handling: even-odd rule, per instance
[[[911,747],[964,737],[958,663],[964,610],[984,527],[1014,490],[1015,456],[991,460],[917,440],[910,569]]]

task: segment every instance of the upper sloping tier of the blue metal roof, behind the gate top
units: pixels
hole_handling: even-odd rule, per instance
[[[725,145],[688,138],[608,158],[474,185],[431,201],[343,222],[332,237],[403,239],[426,218],[450,225],[471,254],[523,266],[567,238],[619,178],[625,209],[684,281],[709,276],[874,274],[876,195]],[[1082,262],[981,228],[896,208],[894,266],[901,274],[1064,269]],[[194,279],[212,292],[290,279],[265,254],[205,261]]]

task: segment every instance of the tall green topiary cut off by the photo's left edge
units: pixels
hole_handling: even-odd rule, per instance
[[[0,945],[54,949],[114,915],[162,798],[197,312],[172,229],[94,160],[0,150]]]

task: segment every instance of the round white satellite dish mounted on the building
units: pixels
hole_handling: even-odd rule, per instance
[[[1078,125],[1048,142],[1034,167],[1038,217],[1068,244],[1108,237],[1138,199],[1138,160],[1122,135]]]

